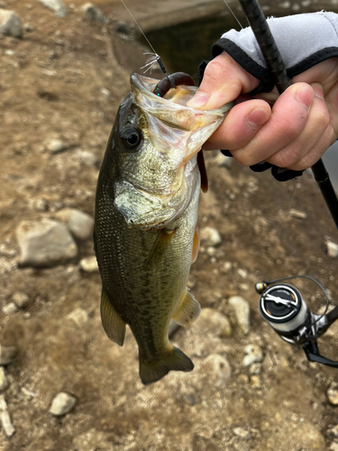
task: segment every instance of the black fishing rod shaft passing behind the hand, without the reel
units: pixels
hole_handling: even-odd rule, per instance
[[[282,94],[290,85],[288,72],[284,61],[269,29],[265,15],[261,11],[257,0],[239,0],[242,10],[250,23],[251,30],[260,46],[260,51],[267,63],[268,69],[275,80],[279,94]],[[325,203],[329,208],[335,226],[338,228],[338,198],[334,192],[329,174],[325,169],[324,162],[319,159],[312,167],[315,181],[322,192]]]

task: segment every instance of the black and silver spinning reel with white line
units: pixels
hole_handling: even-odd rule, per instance
[[[306,278],[314,281],[323,291],[326,308],[322,315],[315,315],[306,305],[299,290],[288,283],[279,283],[290,279]],[[290,345],[301,345],[310,362],[325,364],[338,368],[338,362],[324,357],[319,353],[317,338],[323,336],[326,330],[338,319],[338,306],[328,312],[329,299],[324,288],[312,277],[298,275],[261,281],[255,285],[260,294],[260,315],[279,336]]]

